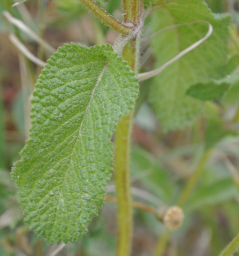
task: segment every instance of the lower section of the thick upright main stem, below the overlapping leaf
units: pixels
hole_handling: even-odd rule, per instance
[[[123,117],[115,133],[115,191],[118,207],[118,240],[116,256],[129,256],[132,244],[132,196],[130,187],[129,154],[132,116]]]

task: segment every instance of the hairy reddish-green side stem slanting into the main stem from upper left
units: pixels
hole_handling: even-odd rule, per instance
[[[104,9],[102,9],[96,2],[93,0],[80,0],[81,3],[89,9],[96,17],[100,19],[105,25],[111,27],[121,34],[128,35],[132,32],[132,28],[124,25],[123,23],[117,21]]]

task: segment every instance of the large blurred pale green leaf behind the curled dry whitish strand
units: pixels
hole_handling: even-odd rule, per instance
[[[150,87],[149,102],[165,131],[183,128],[200,113],[201,102],[185,95],[192,84],[225,75],[230,17],[214,15],[203,0],[172,0],[151,21],[153,32],[176,25],[152,40],[155,66],[159,67],[206,35],[208,25],[201,20],[213,26],[213,34],[158,74]],[[179,26],[187,22],[194,23]]]

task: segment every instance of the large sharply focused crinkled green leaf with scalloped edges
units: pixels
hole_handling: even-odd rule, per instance
[[[31,102],[30,139],[12,173],[38,237],[67,243],[87,230],[111,177],[111,136],[137,94],[137,78],[110,45],[65,44],[47,61]]]

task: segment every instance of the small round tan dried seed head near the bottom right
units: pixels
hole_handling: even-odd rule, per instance
[[[163,223],[170,230],[179,228],[184,220],[184,212],[178,206],[172,206],[167,208],[164,216]]]

